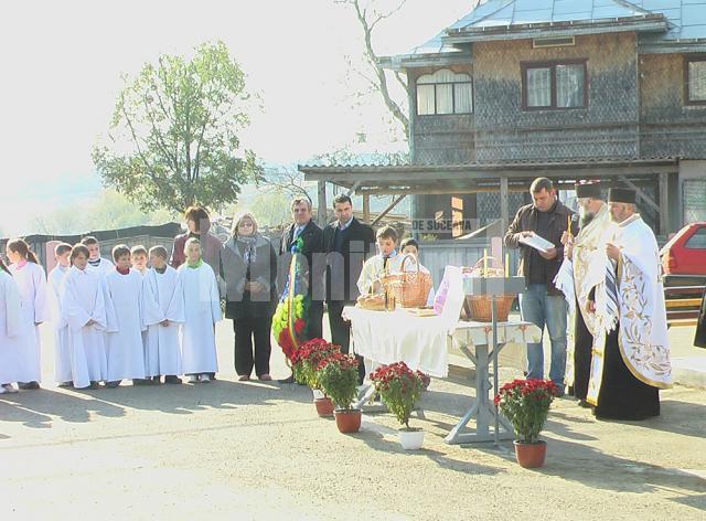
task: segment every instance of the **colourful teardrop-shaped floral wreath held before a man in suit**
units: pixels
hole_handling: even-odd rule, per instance
[[[292,257],[289,264],[287,284],[279,297],[279,304],[272,317],[272,333],[289,364],[291,364],[299,345],[306,340],[309,326],[309,313],[307,311],[311,304],[311,297],[307,295],[306,290],[302,290],[301,255],[297,255],[302,249],[303,241],[298,237],[290,248]]]

